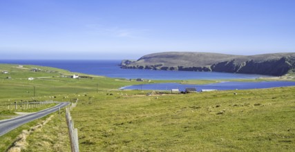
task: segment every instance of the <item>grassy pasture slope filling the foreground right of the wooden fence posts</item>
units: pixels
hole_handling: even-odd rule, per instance
[[[294,92],[99,93],[73,118],[81,151],[294,151]]]

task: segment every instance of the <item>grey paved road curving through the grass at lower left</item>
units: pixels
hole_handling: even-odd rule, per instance
[[[70,102],[61,102],[57,106],[53,106],[52,108],[46,108],[43,111],[39,111],[37,113],[31,113],[29,115],[22,115],[19,117],[15,117],[9,120],[1,120],[0,121],[0,136],[16,129],[18,126],[31,122],[32,120],[37,120],[40,117],[44,117],[50,113],[58,111],[59,108],[63,108],[67,106]]]

